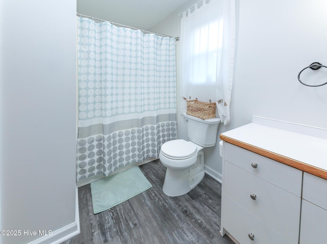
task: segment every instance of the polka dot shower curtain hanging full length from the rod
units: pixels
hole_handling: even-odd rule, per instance
[[[77,181],[158,157],[177,138],[175,39],[78,21]]]

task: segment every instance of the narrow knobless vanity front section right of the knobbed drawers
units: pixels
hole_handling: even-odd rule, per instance
[[[300,244],[327,241],[327,180],[303,173]]]

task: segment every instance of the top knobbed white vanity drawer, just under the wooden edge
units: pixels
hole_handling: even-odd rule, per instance
[[[224,142],[224,150],[224,160],[232,162],[232,164],[286,189],[298,197],[301,196],[302,171],[230,143]],[[252,164],[256,164],[256,168],[253,168],[255,165],[252,166]]]

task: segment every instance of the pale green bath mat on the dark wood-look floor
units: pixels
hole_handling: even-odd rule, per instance
[[[94,213],[107,210],[152,187],[136,166],[91,183]]]

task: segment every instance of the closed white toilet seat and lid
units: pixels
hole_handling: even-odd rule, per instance
[[[167,158],[183,160],[193,157],[197,153],[197,147],[185,140],[173,140],[161,146],[161,153]]]

